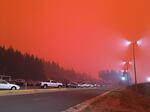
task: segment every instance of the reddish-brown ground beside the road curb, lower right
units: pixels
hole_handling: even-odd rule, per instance
[[[130,90],[112,91],[82,112],[150,112],[150,97]]]

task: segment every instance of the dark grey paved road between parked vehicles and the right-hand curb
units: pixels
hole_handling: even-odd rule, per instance
[[[82,89],[19,96],[1,96],[0,112],[61,112],[103,92],[98,89]]]

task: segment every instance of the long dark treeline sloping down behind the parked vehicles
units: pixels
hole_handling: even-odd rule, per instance
[[[12,47],[8,49],[0,47],[0,75],[25,80],[93,81],[90,75],[77,73],[74,69],[64,69],[54,61],[45,61],[34,55],[23,54]]]

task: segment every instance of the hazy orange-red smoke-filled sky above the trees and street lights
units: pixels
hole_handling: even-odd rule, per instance
[[[121,70],[136,46],[139,81],[150,76],[149,0],[0,0],[0,45],[97,76]],[[133,67],[130,67],[131,71]]]

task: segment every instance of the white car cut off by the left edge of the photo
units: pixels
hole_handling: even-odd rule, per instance
[[[5,80],[0,80],[0,89],[16,90],[16,89],[20,89],[20,86],[16,84],[10,84]]]

